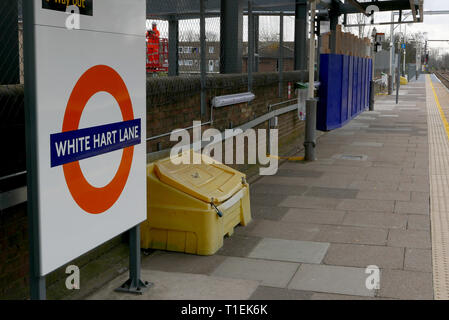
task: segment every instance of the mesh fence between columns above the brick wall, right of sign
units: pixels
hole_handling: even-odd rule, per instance
[[[157,42],[158,56],[151,60],[156,50],[151,49],[149,53],[150,61],[158,62],[161,68],[149,68],[148,73],[152,76],[165,75],[183,75],[193,76],[201,74],[201,39],[200,39],[200,0],[167,0],[164,6],[156,3],[156,1],[148,2],[148,20],[147,29],[152,29],[153,23],[156,25],[156,32],[160,35]],[[221,26],[220,8],[210,9],[206,3],[205,17],[205,73],[213,74],[221,71],[221,60],[226,59],[223,50],[221,50],[220,38],[221,32],[226,36],[227,26]],[[275,3],[275,2],[273,2]],[[251,60],[249,54],[249,19],[248,10],[243,14],[242,22],[242,57],[241,61],[227,61],[228,65],[232,65],[235,73],[247,73],[248,62]],[[167,8],[166,10],[164,10]],[[170,10],[173,10],[171,12]],[[281,24],[277,12],[271,15],[264,15],[257,12],[257,7],[253,9],[253,26],[254,34],[254,72],[279,72],[280,66],[283,65],[284,71],[294,69],[294,15],[285,13],[283,17],[283,43],[280,44]],[[233,23],[239,23],[238,17],[235,17]],[[177,28],[171,27],[176,25]],[[170,31],[172,34],[170,35]],[[170,45],[171,37],[177,37],[177,48]],[[151,43],[151,41],[150,41]],[[150,45],[149,45],[150,46]],[[156,46],[153,46],[156,47]],[[177,54],[173,55],[173,50],[177,50]],[[173,66],[176,63],[177,67]],[[280,61],[282,60],[282,61]]]

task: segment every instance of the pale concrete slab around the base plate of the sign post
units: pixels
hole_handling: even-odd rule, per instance
[[[87,300],[246,300],[259,282],[206,275],[142,270],[142,279],[154,286],[142,295],[114,292],[128,279],[128,274],[111,281],[87,297]]]

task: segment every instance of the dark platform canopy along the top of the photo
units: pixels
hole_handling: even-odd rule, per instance
[[[232,1],[232,0],[228,0]],[[242,1],[244,10],[248,1]],[[296,4],[303,4],[306,0],[253,0],[253,10],[260,14],[270,14],[282,11],[284,14],[294,13]],[[218,15],[220,13],[220,0],[206,1],[206,14]],[[422,22],[424,0],[321,0],[318,10],[331,10],[334,15],[366,13],[367,8],[376,5],[379,11],[406,11],[413,12],[414,22]],[[368,13],[367,15],[369,15]],[[174,16],[198,16],[199,0],[160,1],[147,0],[147,16],[150,18]]]

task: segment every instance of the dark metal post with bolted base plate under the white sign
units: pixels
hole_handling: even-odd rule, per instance
[[[140,224],[129,229],[129,279],[119,288],[118,292],[143,294],[152,283],[140,280]]]

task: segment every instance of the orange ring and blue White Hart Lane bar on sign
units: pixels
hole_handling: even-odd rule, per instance
[[[107,92],[117,101],[123,122],[79,130],[84,107],[98,92]],[[99,214],[120,197],[131,169],[134,145],[140,140],[140,119],[123,79],[112,68],[97,65],[76,83],[65,110],[62,133],[51,135],[52,165],[62,164],[65,181],[76,203],[84,211]],[[71,148],[69,148],[71,147]],[[79,160],[123,149],[120,166],[111,182],[97,188],[84,177]]]

